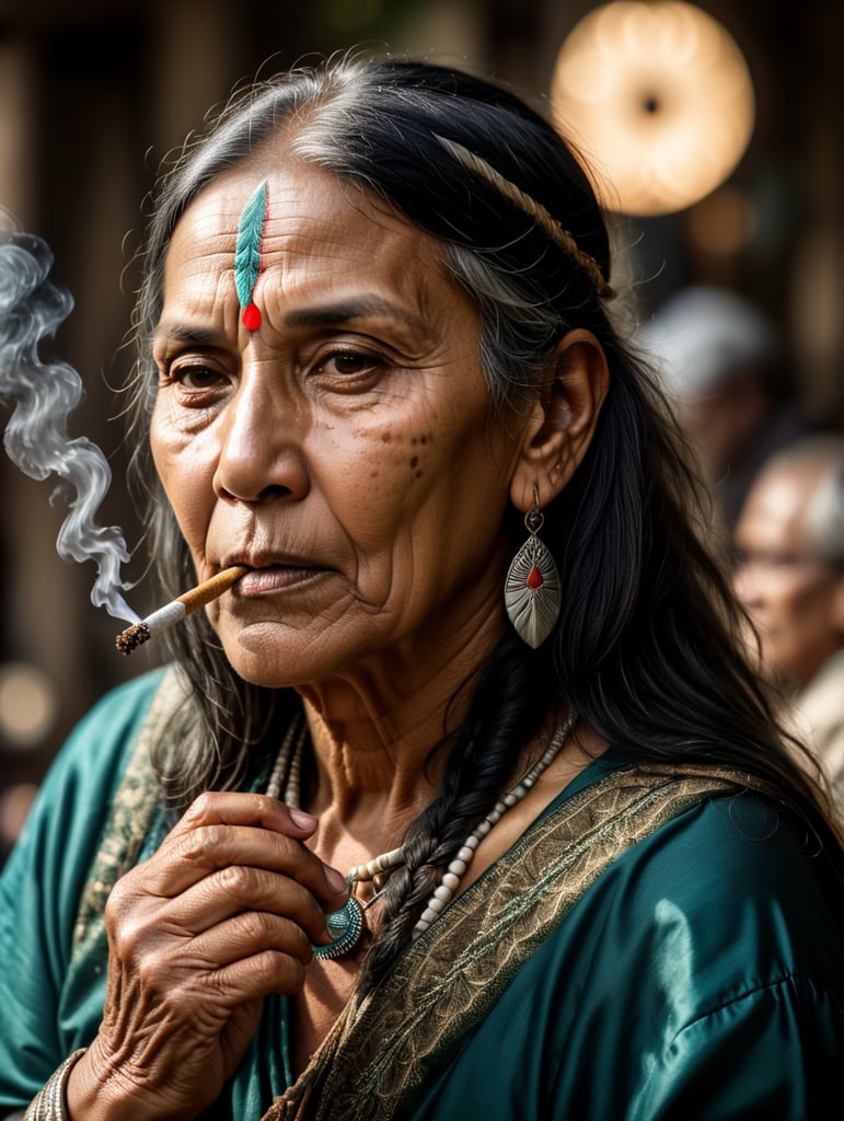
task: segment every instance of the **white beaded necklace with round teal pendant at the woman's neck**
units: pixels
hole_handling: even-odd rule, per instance
[[[414,939],[424,934],[452,901],[460,887],[461,879],[465,876],[481,841],[501,821],[508,809],[512,809],[513,806],[521,802],[542,771],[557,758],[576,720],[575,712],[571,711],[566,721],[554,733],[542,757],[522,775],[519,781],[507,794],[502,795],[483,821],[469,834],[463,845],[457,850],[454,860],[451,861],[443,873],[443,878],[435,889],[434,895],[428,900],[425,910],[419,916],[412,932]],[[307,724],[304,717],[293,720],[267,784],[267,794],[270,797],[281,798],[284,789],[284,802],[295,808],[299,807],[302,757],[306,738]],[[373,856],[368,863],[358,864],[349,870],[346,874],[346,883],[350,889],[349,900],[340,910],[326,916],[328,933],[334,935],[334,941],[327,946],[312,944],[310,948],[316,957],[322,957],[323,960],[340,957],[352,949],[365,927],[363,912],[380,895],[389,873],[400,868],[404,863],[404,849],[398,847],[391,852]],[[354,895],[359,883],[372,883],[374,887],[374,895],[364,904],[361,904]]]

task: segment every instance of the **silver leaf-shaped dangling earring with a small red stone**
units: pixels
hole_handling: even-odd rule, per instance
[[[504,606],[517,634],[535,650],[554,630],[563,603],[557,565],[537,536],[544,521],[534,487],[534,507],[525,515],[528,539],[507,571]]]

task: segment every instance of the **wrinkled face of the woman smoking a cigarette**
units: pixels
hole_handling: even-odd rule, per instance
[[[235,242],[263,179],[248,330]],[[198,576],[252,569],[208,609],[242,676],[399,673],[504,626],[502,519],[527,418],[493,407],[477,343],[435,241],[319,169],[256,161],[185,212],[151,444]]]

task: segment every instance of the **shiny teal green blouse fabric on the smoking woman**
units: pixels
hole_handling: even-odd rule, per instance
[[[96,1032],[105,963],[72,962],[74,920],[159,676],[80,724],[0,877],[0,1117]],[[618,766],[596,761],[560,799]],[[599,878],[404,1115],[828,1118],[844,1092],[844,915],[825,868],[757,797],[686,812]],[[289,1082],[287,1031],[269,999],[207,1118],[260,1119]]]

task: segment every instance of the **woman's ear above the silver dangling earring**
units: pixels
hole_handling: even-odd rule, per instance
[[[525,428],[510,484],[513,506],[527,513],[534,488],[547,506],[567,484],[592,442],[610,371],[591,331],[569,331],[557,343],[541,399]]]

